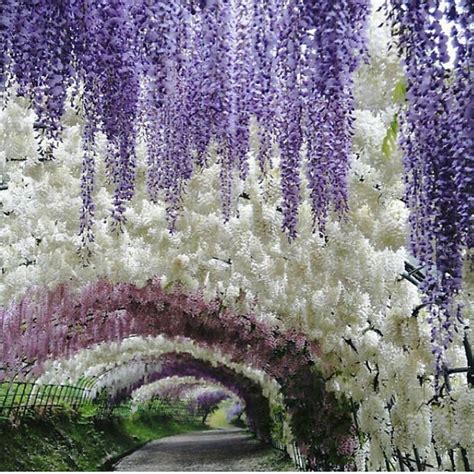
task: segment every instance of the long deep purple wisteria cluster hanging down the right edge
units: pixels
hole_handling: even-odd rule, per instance
[[[474,9],[463,0],[444,5],[392,0],[391,5],[388,17],[408,85],[402,148],[410,246],[426,272],[424,304],[429,307],[438,379],[446,349],[462,324],[455,297],[474,235],[469,72]]]

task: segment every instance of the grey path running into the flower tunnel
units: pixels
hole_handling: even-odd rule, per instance
[[[281,453],[244,430],[209,430],[151,441],[115,471],[291,471]]]

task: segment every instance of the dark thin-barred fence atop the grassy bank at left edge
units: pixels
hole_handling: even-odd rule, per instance
[[[38,384],[34,382],[0,383],[0,417],[21,419],[29,410],[89,403],[90,390],[82,386]]]

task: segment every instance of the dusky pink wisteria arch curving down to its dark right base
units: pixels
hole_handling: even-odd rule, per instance
[[[47,359],[133,334],[184,336],[219,349],[280,384],[294,436],[312,467],[340,469],[348,462],[340,444],[351,436],[350,409],[325,390],[315,370],[318,348],[296,331],[235,314],[200,294],[165,292],[159,280],[144,288],[98,281],[79,293],[65,285],[38,290],[2,310],[0,318],[7,375],[21,371],[25,358],[39,372]]]

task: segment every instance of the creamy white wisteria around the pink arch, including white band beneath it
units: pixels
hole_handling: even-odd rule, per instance
[[[141,146],[139,185],[126,211],[127,226],[119,235],[109,229],[112,190],[105,184],[103,160],[98,160],[95,252],[83,266],[77,255],[82,124],[69,110],[56,160],[40,162],[30,132],[32,114],[20,100],[11,100],[0,112],[0,159],[8,178],[8,189],[0,192],[0,303],[8,304],[32,285],[53,288],[66,282],[80,288],[107,278],[143,286],[158,275],[165,287],[180,283],[317,340],[328,387],[352,398],[359,408],[359,426],[368,439],[357,455],[359,465],[384,469],[385,458],[392,458],[395,449],[412,452],[415,445],[422,459],[436,466],[432,437],[443,463],[448,462],[446,450],[458,445],[472,459],[474,441],[466,421],[473,419],[472,389],[466,388],[464,377],[453,376],[450,396],[429,403],[434,396],[430,329],[423,310],[413,315],[420,303],[417,289],[400,279],[408,258],[401,156],[396,148],[387,156],[382,145],[397,112],[392,91],[401,71],[398,58],[387,50],[387,31],[376,26],[380,23],[374,13],[371,60],[356,78],[347,220],[330,218],[324,236],[313,233],[303,186],[299,237],[292,243],[281,231],[278,168],[262,177],[255,160],[251,162],[247,181],[236,182],[233,215],[225,224],[215,154],[211,165],[189,181],[176,232],[170,233],[164,205],[145,199]],[[253,135],[250,153],[255,155]],[[99,143],[99,153],[104,153],[105,140]],[[468,302],[472,279],[465,282],[460,298]],[[464,317],[472,336],[474,314],[468,305]],[[461,333],[455,335],[448,354],[451,366],[466,366],[462,338]],[[52,362],[44,380],[63,381],[66,373],[77,380],[99,367],[129,361],[136,353],[154,356],[181,350],[232,366],[224,354],[197,346],[185,349],[187,342],[163,342],[163,349],[160,344],[132,338],[122,345],[101,345],[70,361]],[[248,370],[239,368],[245,375]],[[267,396],[278,398],[274,382],[262,374],[253,377],[260,377]]]

